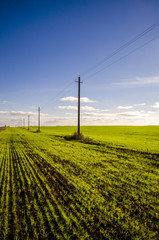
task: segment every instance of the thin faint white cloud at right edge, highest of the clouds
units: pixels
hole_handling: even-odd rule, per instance
[[[137,77],[132,81],[119,82],[119,83],[115,83],[114,85],[133,86],[133,85],[152,85],[152,84],[159,84],[159,76]]]

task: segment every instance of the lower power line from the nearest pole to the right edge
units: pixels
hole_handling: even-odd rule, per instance
[[[148,45],[148,44],[149,44],[149,43],[151,43],[152,41],[156,40],[157,38],[159,38],[159,35],[158,35],[157,37],[154,37],[153,39],[151,39],[151,40],[147,41],[147,42],[146,42],[146,43],[144,43],[143,45],[141,45],[141,46],[139,46],[139,47],[135,48],[135,49],[134,49],[134,50],[132,50],[131,52],[127,53],[126,55],[124,55],[124,56],[122,56],[122,57],[118,58],[116,61],[114,61],[114,62],[110,63],[109,65],[107,65],[106,67],[104,67],[104,68],[100,69],[99,71],[95,72],[94,74],[90,75],[89,77],[87,77],[87,78],[84,78],[83,80],[87,80],[87,79],[89,79],[89,78],[91,78],[91,77],[93,77],[93,76],[97,75],[98,73],[100,73],[100,72],[102,72],[103,70],[105,70],[105,69],[107,69],[107,68],[111,67],[111,66],[112,66],[112,65],[114,65],[115,63],[117,63],[117,62],[121,61],[122,59],[124,59],[124,58],[128,57],[129,55],[131,55],[132,53],[136,52],[137,50],[139,50],[139,49],[141,49],[141,48],[145,47],[146,45]]]

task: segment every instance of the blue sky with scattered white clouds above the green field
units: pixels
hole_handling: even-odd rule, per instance
[[[82,125],[159,124],[159,25],[102,62],[158,12],[157,0],[1,1],[0,125],[36,125],[39,106],[43,125],[75,125],[79,75]]]

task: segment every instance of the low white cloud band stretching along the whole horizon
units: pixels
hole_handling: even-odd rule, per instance
[[[6,113],[6,112],[5,112]],[[19,112],[18,114],[23,114]],[[29,112],[25,112],[28,114]],[[2,111],[1,111],[2,114]],[[15,112],[14,112],[15,114]],[[26,115],[1,115],[0,125],[15,126],[20,124],[22,118]],[[38,118],[36,113],[31,116],[31,125],[37,126]],[[120,112],[96,112],[96,111],[82,111],[81,125],[156,125],[159,123],[158,111],[120,111]],[[27,125],[27,118],[26,118]],[[41,126],[68,126],[77,125],[77,113],[66,113],[66,116],[44,116],[41,117]]]

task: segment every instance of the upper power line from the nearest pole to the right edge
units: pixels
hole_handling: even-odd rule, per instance
[[[156,28],[157,26],[159,26],[159,21],[155,22],[154,24],[152,24],[150,27],[148,27],[147,29],[145,29],[142,33],[138,34],[137,36],[135,36],[134,38],[132,38],[130,41],[126,42],[125,44],[123,44],[121,47],[119,47],[118,49],[116,49],[115,51],[113,51],[110,55],[106,56],[105,58],[103,58],[102,60],[100,60],[98,63],[96,63],[95,65],[93,65],[92,67],[90,67],[88,70],[86,70],[83,74],[81,74],[82,76],[85,76],[87,73],[89,73],[90,71],[94,70],[95,68],[97,68],[98,66],[100,66],[101,64],[103,64],[104,62],[106,62],[107,60],[109,60],[110,58],[112,58],[114,55],[116,55],[117,53],[119,53],[120,51],[122,51],[123,49],[129,47],[130,45],[132,45],[134,42],[136,42],[138,39],[140,39],[141,37],[143,37],[144,35],[146,35],[147,33],[149,33],[150,31],[152,31],[154,28]]]

